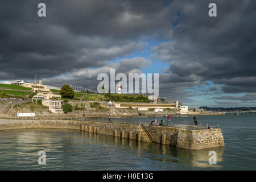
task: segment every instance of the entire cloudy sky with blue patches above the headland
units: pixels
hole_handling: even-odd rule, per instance
[[[46,17],[38,4],[46,3]],[[208,5],[217,5],[217,17]],[[99,73],[159,73],[184,105],[256,106],[253,0],[2,0],[0,80],[96,90]]]

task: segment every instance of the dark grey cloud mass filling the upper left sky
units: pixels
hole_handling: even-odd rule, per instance
[[[170,26],[168,9],[155,1],[43,1],[45,18],[38,17],[40,2],[0,2],[0,79],[103,67]]]

